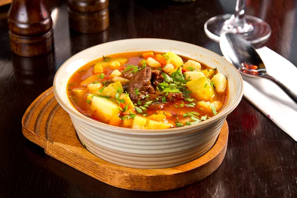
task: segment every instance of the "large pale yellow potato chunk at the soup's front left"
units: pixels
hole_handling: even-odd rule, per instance
[[[116,103],[97,96],[92,98],[91,109],[96,110],[97,115],[105,122],[109,122],[120,112]]]

